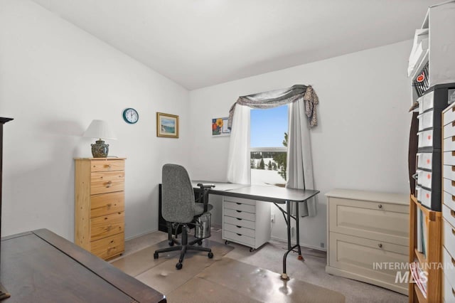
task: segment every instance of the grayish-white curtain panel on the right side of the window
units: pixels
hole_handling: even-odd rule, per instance
[[[304,98],[288,105],[289,133],[287,144],[286,187],[314,189],[313,161],[308,119],[305,115]],[[316,198],[299,205],[296,216],[316,216]]]

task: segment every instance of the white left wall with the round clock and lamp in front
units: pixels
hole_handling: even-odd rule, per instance
[[[134,107],[139,122],[122,111]],[[0,116],[4,127],[2,236],[48,228],[73,240],[74,157],[92,119],[117,132],[125,156],[126,237],[158,228],[166,162],[188,164],[188,91],[27,0],[0,0]],[[180,116],[180,138],[156,137],[156,112]]]

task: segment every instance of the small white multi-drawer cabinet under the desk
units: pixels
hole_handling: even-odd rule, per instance
[[[270,240],[270,204],[245,198],[223,197],[223,239],[250,247]]]

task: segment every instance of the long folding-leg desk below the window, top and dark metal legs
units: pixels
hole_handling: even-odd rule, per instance
[[[299,260],[304,260],[301,255],[300,237],[299,237],[299,203],[307,201],[309,198],[316,196],[319,191],[312,189],[293,189],[283,188],[277,186],[260,186],[260,185],[245,185],[245,184],[232,184],[223,182],[210,182],[210,181],[191,181],[193,188],[199,189],[198,184],[214,184],[214,188],[210,188],[208,193],[220,196],[231,196],[237,198],[247,198],[257,201],[266,201],[279,204],[286,204],[286,211],[279,208],[284,215],[287,225],[287,252],[283,256],[283,273],[282,279],[289,280],[286,273],[286,258],[289,252],[297,248],[299,252]],[[297,216],[291,216],[291,202],[296,202]],[[296,245],[291,245],[291,218],[296,221]]]

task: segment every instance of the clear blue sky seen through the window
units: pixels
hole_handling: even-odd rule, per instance
[[[287,105],[251,110],[251,147],[283,147],[287,132]]]

